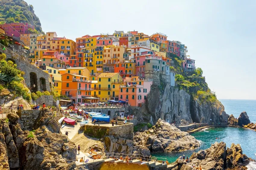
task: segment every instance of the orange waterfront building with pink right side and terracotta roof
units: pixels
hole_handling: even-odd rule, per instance
[[[88,77],[65,73],[62,76],[61,93],[72,99],[75,103],[95,103],[98,98],[91,97],[92,81]]]

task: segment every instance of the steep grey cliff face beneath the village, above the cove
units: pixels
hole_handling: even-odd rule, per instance
[[[192,122],[225,122],[228,115],[224,106],[215,102],[199,101],[185,90],[180,90],[169,83],[164,88],[153,84],[148,94],[147,102],[142,106],[142,116],[152,124],[159,118],[168,123],[187,124]],[[141,116],[141,115],[139,115]]]

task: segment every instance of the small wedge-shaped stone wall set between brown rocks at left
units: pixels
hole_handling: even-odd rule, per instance
[[[40,110],[20,110],[17,114],[20,117],[21,129],[23,131],[31,131],[33,130],[36,119],[40,114]]]

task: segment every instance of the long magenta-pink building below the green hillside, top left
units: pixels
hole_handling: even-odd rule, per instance
[[[28,34],[29,28],[34,30],[34,26],[29,23],[5,23],[0,25],[8,36],[20,37],[20,34]]]

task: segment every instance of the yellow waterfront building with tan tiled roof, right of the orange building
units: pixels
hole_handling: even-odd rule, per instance
[[[96,90],[98,98],[101,102],[108,100],[119,100],[119,86],[117,80],[122,80],[119,73],[101,73],[98,76],[98,84]]]

